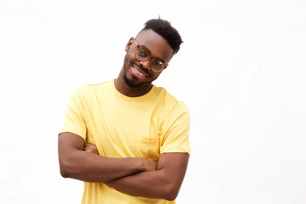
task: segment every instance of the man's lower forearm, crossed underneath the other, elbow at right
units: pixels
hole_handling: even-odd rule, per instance
[[[105,182],[106,185],[119,191],[147,198],[173,200],[176,195],[172,192],[171,181],[164,171],[147,171],[125,176]]]

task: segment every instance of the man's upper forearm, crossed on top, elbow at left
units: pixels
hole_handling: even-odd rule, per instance
[[[60,159],[63,177],[84,182],[107,182],[143,171],[142,158],[107,158],[90,152],[75,150]]]

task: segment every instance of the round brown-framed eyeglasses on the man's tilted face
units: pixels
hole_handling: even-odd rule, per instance
[[[136,39],[134,40],[136,42]],[[135,50],[135,57],[140,61],[146,61],[147,59],[151,58],[150,68],[152,69],[152,71],[161,72],[162,70],[167,68],[168,65],[165,65],[165,63],[163,63],[161,60],[152,58],[146,48],[139,45],[137,42],[136,46],[137,48]]]

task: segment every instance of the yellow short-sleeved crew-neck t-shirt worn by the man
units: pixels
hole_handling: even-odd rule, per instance
[[[76,89],[60,133],[70,132],[97,146],[105,157],[158,160],[163,152],[187,152],[190,114],[186,105],[155,85],[140,97],[127,97],[114,80]],[[125,194],[103,183],[84,183],[83,204],[175,201]]]

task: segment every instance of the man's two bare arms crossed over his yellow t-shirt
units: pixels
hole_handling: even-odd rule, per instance
[[[58,153],[61,175],[104,183],[119,191],[147,198],[174,200],[187,170],[187,153],[163,153],[158,162],[145,158],[107,158],[84,151],[84,139],[61,133]]]

